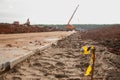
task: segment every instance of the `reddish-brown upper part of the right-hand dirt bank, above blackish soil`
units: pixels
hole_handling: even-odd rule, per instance
[[[113,25],[111,27],[98,28],[88,30],[81,34],[82,39],[92,40],[118,40],[120,39],[120,25]]]

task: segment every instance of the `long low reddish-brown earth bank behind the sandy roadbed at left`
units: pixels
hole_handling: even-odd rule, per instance
[[[0,34],[11,33],[30,33],[30,32],[50,32],[50,31],[62,31],[55,27],[38,27],[38,26],[24,26],[13,24],[0,24]]]

